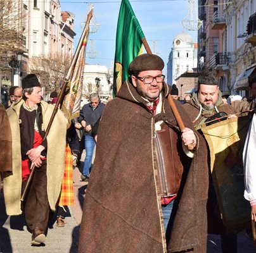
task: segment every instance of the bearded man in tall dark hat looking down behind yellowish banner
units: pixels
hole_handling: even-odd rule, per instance
[[[193,121],[196,130],[200,130],[203,123],[212,121],[215,118],[221,118],[223,115],[229,115],[227,118],[236,118],[234,109],[222,101],[216,72],[207,67],[204,67],[198,76],[198,91],[193,94],[190,101],[184,104],[184,108],[191,121]],[[210,164],[208,168],[210,168]],[[212,176],[210,176],[209,182],[207,212],[208,233],[221,234],[222,252],[237,252],[236,234],[227,233],[226,227],[222,223]]]

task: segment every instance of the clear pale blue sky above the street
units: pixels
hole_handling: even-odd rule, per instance
[[[195,0],[195,2],[197,2]],[[94,23],[100,23],[98,32],[89,34],[86,63],[89,65],[103,65],[113,68],[115,58],[115,36],[117,19],[121,1],[94,0]],[[182,20],[188,14],[188,0],[134,0],[130,1],[132,9],[148,40],[151,51],[158,53],[165,62],[163,74],[166,75],[167,63],[174,37],[182,31],[190,34],[197,40],[197,32],[184,30]],[[75,15],[74,51],[82,33],[82,25],[87,18],[89,2],[81,0],[60,0],[61,11],[71,11]],[[197,12],[197,6],[196,6]],[[96,20],[94,20],[94,18]],[[96,51],[96,58],[91,58],[88,52]],[[145,51],[144,51],[145,52]]]

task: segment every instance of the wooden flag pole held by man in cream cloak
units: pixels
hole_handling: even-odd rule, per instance
[[[46,137],[49,134],[49,130],[51,129],[51,125],[53,124],[54,117],[55,117],[55,115],[56,115],[56,113],[58,111],[58,108],[59,108],[59,106],[61,107],[61,105],[63,103],[63,100],[64,100],[64,97],[65,97],[65,94],[66,94],[66,89],[67,89],[67,85],[68,85],[70,76],[72,74],[72,71],[75,68],[75,63],[77,62],[77,58],[79,56],[80,49],[81,49],[82,44],[84,42],[84,38],[86,37],[86,33],[87,33],[86,27],[87,27],[87,24],[91,21],[92,17],[93,17],[93,9],[91,9],[91,11],[87,15],[86,25],[85,25],[84,30],[82,32],[82,35],[80,37],[79,44],[77,45],[77,49],[75,50],[74,57],[72,58],[72,61],[70,63],[70,67],[68,69],[68,73],[67,73],[66,77],[64,78],[64,82],[63,82],[63,85],[61,87],[60,94],[58,96],[58,101],[56,102],[56,104],[54,106],[53,114],[51,115],[51,118],[50,118],[49,123],[48,123],[48,127],[46,128],[46,132],[44,133],[44,137],[43,137],[42,141],[46,140]],[[33,178],[34,172],[35,172],[35,164],[34,163],[32,163],[32,165],[30,167],[30,170],[31,171],[30,171],[30,174],[29,174],[29,178],[27,179],[27,184],[26,184],[26,186],[25,186],[25,188],[23,190],[23,194],[22,194],[22,197],[20,198],[20,201],[24,201],[25,196],[27,195],[27,192],[29,190],[29,185],[30,185],[30,183],[32,181],[32,178]]]

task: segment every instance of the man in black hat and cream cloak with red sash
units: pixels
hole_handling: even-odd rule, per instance
[[[22,80],[23,96],[8,109],[12,136],[12,171],[4,173],[4,200],[8,215],[24,211],[32,245],[46,239],[49,210],[55,209],[65,168],[67,122],[58,111],[45,140],[44,134],[54,107],[42,101],[36,75]],[[58,142],[56,141],[58,140]],[[31,164],[35,173],[24,202],[20,201]]]

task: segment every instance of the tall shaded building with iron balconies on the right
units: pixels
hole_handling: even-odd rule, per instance
[[[198,0],[198,6],[199,71],[203,65],[215,68],[221,90],[248,96],[256,66],[256,1]]]

